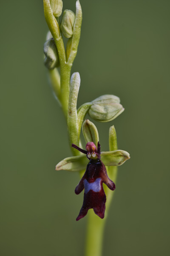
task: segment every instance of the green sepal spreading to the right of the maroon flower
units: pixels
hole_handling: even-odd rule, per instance
[[[120,166],[129,158],[130,154],[124,150],[101,152],[101,160],[105,166]]]

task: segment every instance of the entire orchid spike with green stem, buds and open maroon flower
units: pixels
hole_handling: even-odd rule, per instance
[[[120,104],[119,97],[106,94],[92,102],[83,103],[77,109],[80,75],[76,72],[71,76],[71,67],[77,55],[81,33],[81,5],[77,0],[75,15],[71,10],[65,10],[60,23],[62,0],[43,0],[43,3],[45,20],[50,30],[44,45],[45,66],[48,68],[54,95],[67,121],[68,143],[70,147],[72,145],[73,154],[72,157],[61,160],[56,170],[79,172],[81,180],[75,193],[78,195],[84,189],[84,201],[77,220],[83,218],[90,209],[85,256],[101,256],[105,220],[113,197],[111,190],[115,189],[117,166],[125,163],[130,156],[127,151],[118,150],[114,126],[109,130],[109,151],[101,152],[96,126],[90,120],[84,121],[84,119],[88,113],[98,122],[110,122],[119,116],[124,108]],[[62,36],[68,38],[66,47]],[[81,129],[86,150],[83,149],[80,141]]]

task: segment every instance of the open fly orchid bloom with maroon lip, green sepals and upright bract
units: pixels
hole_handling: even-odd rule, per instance
[[[74,157],[67,157],[60,161],[56,170],[67,170],[71,172],[84,172],[79,184],[75,189],[78,195],[84,189],[84,200],[80,209],[77,221],[87,214],[89,209],[93,209],[100,218],[105,216],[105,203],[108,191],[104,191],[103,183],[109,189],[115,189],[115,183],[109,179],[106,167],[109,169],[109,175],[113,175],[113,166],[121,166],[130,158],[127,151],[117,150],[116,131],[114,125],[109,129],[109,148],[111,151],[100,150],[99,134],[93,122],[86,119],[82,125],[82,132],[86,141],[86,150],[79,148],[72,143],[72,148],[81,153]],[[97,145],[97,147],[96,147]],[[76,152],[74,154],[77,154]],[[106,192],[106,195],[105,195]]]

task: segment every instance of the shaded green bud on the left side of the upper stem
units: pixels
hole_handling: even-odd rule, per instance
[[[59,66],[59,55],[54,38],[48,39],[44,44],[45,67],[52,70]]]

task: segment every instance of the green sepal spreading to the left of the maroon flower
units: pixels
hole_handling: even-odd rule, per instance
[[[86,169],[89,160],[86,155],[76,156],[76,157],[67,157],[60,161],[56,166],[56,171],[71,171],[79,172]]]

